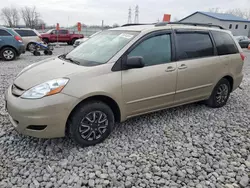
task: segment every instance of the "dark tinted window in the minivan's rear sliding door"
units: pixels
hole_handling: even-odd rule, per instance
[[[214,55],[212,40],[208,33],[177,33],[178,60],[203,58]]]

